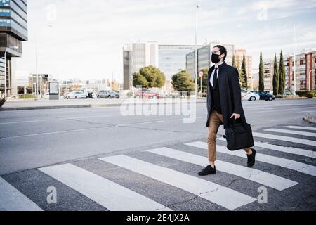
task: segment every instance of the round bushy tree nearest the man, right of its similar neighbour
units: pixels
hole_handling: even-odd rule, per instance
[[[195,79],[186,70],[173,75],[171,84],[176,91],[195,90]]]

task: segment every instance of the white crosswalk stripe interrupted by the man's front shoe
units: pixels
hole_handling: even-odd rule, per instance
[[[155,153],[157,155],[164,155],[169,158],[176,160],[181,160],[183,162],[190,162],[195,165],[205,166],[208,162],[206,157],[200,155],[195,155],[191,153],[185,153],[180,150],[175,150],[171,148],[157,148],[148,150],[150,153]],[[228,174],[233,174],[235,176],[240,176],[244,179],[249,179],[255,181],[258,184],[263,184],[265,186],[275,188],[278,191],[283,191],[284,189],[290,188],[298,184],[295,181],[282,178],[267,172],[260,171],[258,169],[251,169],[248,167],[242,167],[240,165],[232,164],[230,162],[223,162],[220,160],[216,161],[217,170]]]

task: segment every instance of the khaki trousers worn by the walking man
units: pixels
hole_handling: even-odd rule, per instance
[[[209,119],[209,138],[207,140],[209,150],[209,162],[216,161],[216,138],[218,129],[220,127],[220,122],[224,122],[223,115],[217,113],[216,110],[213,110]],[[244,150],[246,151],[246,153],[248,153],[250,148],[245,148]]]

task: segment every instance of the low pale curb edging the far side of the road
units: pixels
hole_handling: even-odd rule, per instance
[[[206,101],[199,101],[197,104],[206,103]],[[153,105],[154,103],[140,103],[128,105]],[[163,103],[164,105],[175,103]],[[66,109],[66,108],[106,108],[106,107],[119,107],[121,103],[115,104],[90,104],[90,105],[56,105],[56,106],[33,106],[33,107],[13,107],[13,108],[0,108],[2,111],[20,111],[20,110],[51,110],[51,109]]]

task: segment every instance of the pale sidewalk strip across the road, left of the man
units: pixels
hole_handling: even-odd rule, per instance
[[[146,104],[176,104],[183,99],[167,98],[153,101],[150,99],[140,99],[138,103],[133,102],[135,98],[122,99],[77,99],[77,100],[14,100],[4,103],[0,111],[13,110],[41,110],[41,109],[58,109],[58,108],[98,108],[98,107],[119,107],[123,103],[128,105],[146,105]],[[130,101],[126,103],[126,101]],[[206,103],[206,98],[197,100],[197,103]]]

